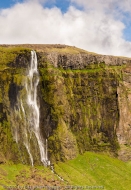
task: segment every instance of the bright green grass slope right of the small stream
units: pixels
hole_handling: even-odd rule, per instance
[[[107,190],[131,189],[131,163],[104,154],[86,152],[55,170],[72,185],[104,186]]]

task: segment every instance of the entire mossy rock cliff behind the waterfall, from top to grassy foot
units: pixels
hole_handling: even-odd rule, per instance
[[[131,59],[65,45],[0,47],[1,155],[29,163],[25,147],[15,142],[13,134],[31,49],[38,56],[40,128],[48,138],[50,160],[72,159],[88,150],[131,159]],[[40,164],[33,142],[32,149],[35,163]]]

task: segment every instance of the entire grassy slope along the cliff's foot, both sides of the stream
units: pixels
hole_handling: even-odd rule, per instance
[[[131,164],[105,154],[86,152],[76,159],[55,164],[61,181],[48,168],[26,165],[0,165],[0,184],[6,186],[104,186],[107,190],[131,189]],[[2,190],[0,186],[0,190]]]

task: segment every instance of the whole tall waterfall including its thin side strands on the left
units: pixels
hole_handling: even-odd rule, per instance
[[[40,132],[40,109],[38,104],[37,87],[39,84],[39,72],[37,69],[37,55],[35,51],[31,51],[31,62],[27,70],[27,77],[24,80],[25,93],[24,98],[19,98],[17,107],[19,108],[17,118],[22,121],[22,127],[16,127],[14,136],[17,143],[22,139],[24,146],[30,157],[31,165],[34,165],[31,138],[35,135],[39,146],[41,162],[44,165],[50,165],[47,155],[47,139],[43,139]],[[24,99],[24,100],[23,100]],[[16,116],[15,116],[16,117]],[[22,135],[20,136],[19,131]]]

